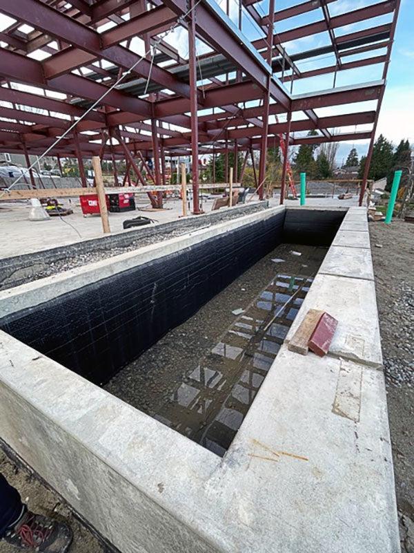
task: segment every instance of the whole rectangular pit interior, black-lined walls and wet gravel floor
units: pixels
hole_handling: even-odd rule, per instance
[[[343,218],[258,216],[3,317],[0,328],[223,456]]]

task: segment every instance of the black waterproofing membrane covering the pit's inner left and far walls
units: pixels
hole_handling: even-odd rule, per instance
[[[0,328],[105,384],[277,245],[329,245],[343,218],[288,209],[3,317]]]

